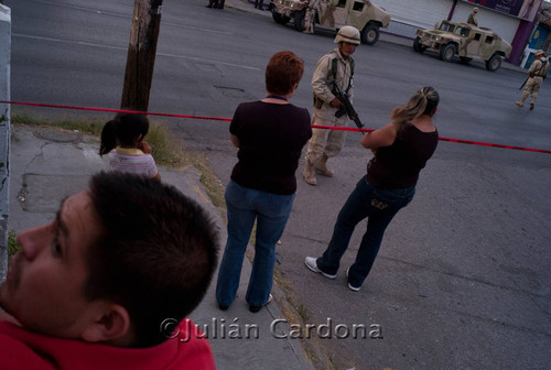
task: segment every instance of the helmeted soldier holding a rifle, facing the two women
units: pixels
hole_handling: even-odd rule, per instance
[[[338,47],[317,61],[312,77],[314,92],[312,124],[345,127],[348,119],[346,115],[335,117],[343,104],[332,92],[333,81],[348,95],[352,101],[354,59],[350,55],[360,43],[359,31],[352,25],[345,25],[338,30],[334,42],[338,44]],[[323,176],[333,176],[333,171],[327,168],[327,159],[341,152],[345,131],[326,129],[313,129],[312,131],[313,135],[309,142],[303,176],[307,184],[316,185],[316,172]]]

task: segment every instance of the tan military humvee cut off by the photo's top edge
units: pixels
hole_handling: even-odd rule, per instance
[[[277,23],[293,21],[298,31],[304,31],[304,17],[313,0],[271,0],[270,9]],[[361,42],[372,45],[379,40],[379,28],[388,28],[390,15],[369,0],[320,0],[315,25],[341,29],[353,25],[360,31]]]

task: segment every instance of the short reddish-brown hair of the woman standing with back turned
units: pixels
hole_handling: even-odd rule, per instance
[[[273,54],[266,67],[266,89],[272,94],[285,95],[291,91],[304,74],[304,62],[293,52]]]

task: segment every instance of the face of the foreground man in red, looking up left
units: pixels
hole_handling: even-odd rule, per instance
[[[89,194],[82,192],[62,204],[53,222],[18,236],[21,250],[0,286],[0,306],[28,329],[78,338],[95,318],[95,304],[83,294],[86,250],[99,233],[94,215]]]

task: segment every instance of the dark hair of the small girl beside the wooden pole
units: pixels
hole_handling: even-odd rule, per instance
[[[99,155],[109,153],[120,145],[132,145],[139,135],[142,139],[148,134],[149,120],[144,115],[117,113],[101,130]]]

